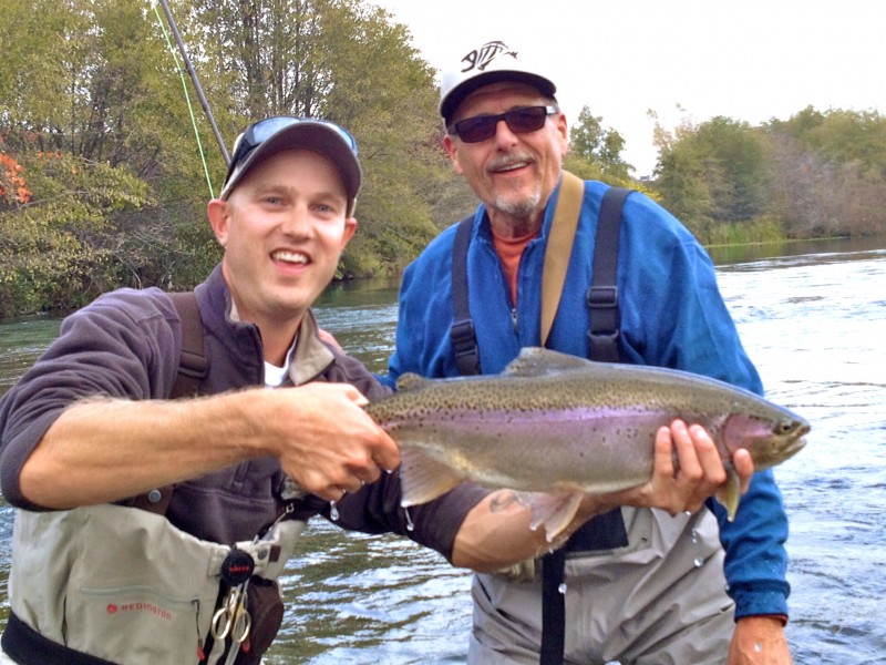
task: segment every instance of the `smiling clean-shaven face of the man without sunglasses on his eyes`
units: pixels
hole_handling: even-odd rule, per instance
[[[285,150],[209,204],[239,317],[291,327],[330,283],[357,221],[341,177],[319,153]]]

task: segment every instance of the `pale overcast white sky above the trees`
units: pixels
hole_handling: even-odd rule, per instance
[[[587,105],[651,173],[653,123],[678,104],[759,124],[808,105],[886,114],[884,0],[370,0],[436,70],[502,40],[550,63],[571,125]]]

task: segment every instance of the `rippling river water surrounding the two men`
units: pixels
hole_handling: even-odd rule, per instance
[[[886,664],[886,242],[714,258],[767,397],[813,424],[806,448],[775,470],[791,520],[787,636],[795,662]],[[318,318],[381,371],[395,299],[390,282],[337,285]],[[0,324],[0,393],[58,324]],[[0,503],[0,617],[13,514]],[[282,579],[287,613],[266,662],[464,663],[470,581],[404,539],[315,521]]]

